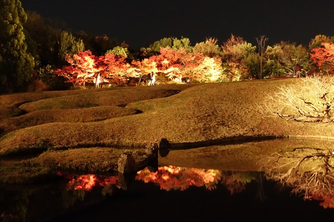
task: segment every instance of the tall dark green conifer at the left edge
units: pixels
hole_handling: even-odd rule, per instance
[[[22,24],[27,14],[20,0],[0,0],[0,92],[22,91],[34,67]]]

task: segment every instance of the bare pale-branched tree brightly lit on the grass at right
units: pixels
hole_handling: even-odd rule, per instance
[[[278,87],[260,113],[302,122],[334,122],[334,76],[312,76]]]

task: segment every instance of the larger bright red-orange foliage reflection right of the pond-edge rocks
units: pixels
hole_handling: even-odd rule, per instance
[[[189,186],[205,186],[211,190],[216,188],[221,175],[222,172],[219,170],[165,166],[159,167],[156,173],[151,173],[147,169],[139,171],[136,179],[145,183],[159,183],[160,188],[164,190],[185,190]]]

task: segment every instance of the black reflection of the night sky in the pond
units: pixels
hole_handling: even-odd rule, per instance
[[[84,209],[62,215],[50,222],[290,222],[328,221],[333,209],[324,209],[317,201],[291,196],[290,189],[280,189],[273,181],[263,181],[265,198],[256,198],[256,181],[242,193],[231,195],[223,185],[208,191],[190,187],[185,191],[160,190],[153,183],[136,181],[131,191]]]

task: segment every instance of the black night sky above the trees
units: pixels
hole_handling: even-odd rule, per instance
[[[26,11],[60,18],[73,32],[115,37],[132,49],[181,36],[193,46],[206,37],[223,44],[232,34],[256,45],[280,41],[308,46],[334,36],[334,0],[21,0]]]

